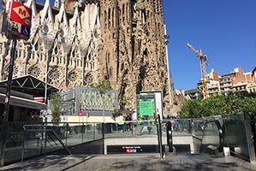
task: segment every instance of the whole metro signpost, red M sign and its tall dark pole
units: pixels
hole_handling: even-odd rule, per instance
[[[0,139],[0,167],[4,165],[4,156],[6,148],[6,138],[7,138],[7,123],[9,118],[9,98],[10,90],[13,76],[13,69],[15,64],[15,51],[17,39],[27,39],[30,35],[31,27],[31,17],[32,9],[25,6],[23,3],[18,3],[12,0],[9,0],[4,9],[6,13],[6,21],[4,27],[4,32],[7,38],[13,39],[12,41],[12,50],[9,61],[9,75],[8,82],[6,87],[6,96],[4,100],[4,111],[3,111],[3,120],[1,127],[1,139]]]

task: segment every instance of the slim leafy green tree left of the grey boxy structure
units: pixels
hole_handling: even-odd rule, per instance
[[[57,92],[53,92],[50,97],[51,103],[51,122],[61,121],[60,114],[62,109],[62,97]]]

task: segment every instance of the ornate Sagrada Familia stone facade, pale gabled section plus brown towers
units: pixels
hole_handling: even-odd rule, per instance
[[[109,80],[135,105],[140,91],[162,91],[169,110],[162,0],[27,0],[31,36],[16,46],[13,78],[22,75],[59,90]],[[0,38],[0,81],[7,80],[11,41]]]

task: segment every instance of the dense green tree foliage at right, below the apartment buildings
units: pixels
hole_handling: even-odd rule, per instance
[[[256,113],[255,93],[235,92],[227,95],[214,95],[205,99],[187,100],[179,111],[179,115],[182,118],[196,118],[244,112]]]

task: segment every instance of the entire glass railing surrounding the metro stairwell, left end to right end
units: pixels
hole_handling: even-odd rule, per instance
[[[165,126],[170,121],[173,137],[193,135],[201,139],[204,147],[209,144],[219,147],[222,141],[219,136],[219,127],[215,123],[216,120],[220,121],[220,125],[223,125],[224,146],[230,147],[230,150],[234,150],[242,156],[248,156],[244,121],[241,115],[224,119],[215,116],[200,119],[162,120],[162,137],[166,138]],[[26,125],[26,130],[24,130],[24,125]],[[57,136],[50,129],[53,129]],[[99,139],[157,138],[157,136],[158,130],[155,120],[128,121],[123,124],[116,122],[104,124],[68,122],[58,125],[42,122],[9,122],[4,161],[6,163],[18,162],[22,158],[63,150],[63,144],[66,147],[71,147]],[[61,139],[61,142],[57,137]]]

